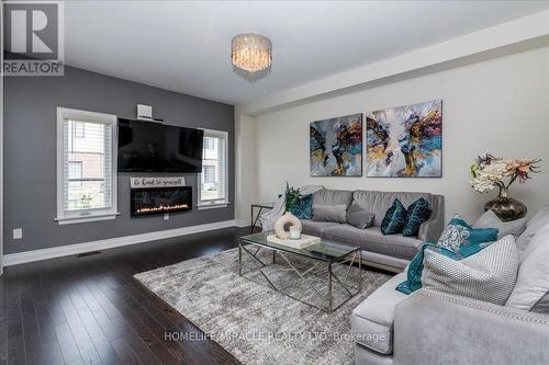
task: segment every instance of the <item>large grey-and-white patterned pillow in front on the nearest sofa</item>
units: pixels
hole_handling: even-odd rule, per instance
[[[462,260],[433,250],[424,254],[424,288],[503,306],[515,287],[518,256],[511,235]]]

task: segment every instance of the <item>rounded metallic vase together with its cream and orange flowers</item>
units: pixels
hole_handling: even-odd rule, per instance
[[[518,180],[519,183],[530,179],[530,173],[537,173],[540,159],[503,159],[491,153],[479,156],[471,164],[471,186],[479,193],[486,193],[494,187],[500,189],[496,198],[484,205],[484,210],[491,209],[503,221],[509,221],[526,216],[526,205],[509,197],[509,186]]]

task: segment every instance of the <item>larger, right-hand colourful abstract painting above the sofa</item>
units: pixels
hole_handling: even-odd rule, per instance
[[[367,176],[442,176],[442,101],[385,109],[366,117]]]

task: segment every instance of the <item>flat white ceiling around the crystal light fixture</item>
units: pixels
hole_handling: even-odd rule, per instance
[[[549,9],[549,1],[69,1],[66,62],[229,104]],[[231,38],[273,45],[271,73],[233,72]]]

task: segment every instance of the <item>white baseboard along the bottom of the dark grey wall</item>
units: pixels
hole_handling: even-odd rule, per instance
[[[209,230],[235,227],[235,220],[215,221],[205,225],[159,230],[155,232],[147,232],[141,235],[123,236],[115,238],[108,238],[99,241],[59,246],[49,249],[24,251],[18,253],[9,253],[3,255],[2,264],[4,266],[18,265],[22,263],[41,261],[54,258],[68,256],[90,251],[107,250],[122,246],[130,246],[143,243],[148,241],[161,240],[165,238],[172,238],[179,236],[187,236],[191,233],[205,232]]]

